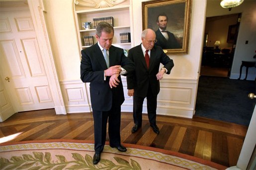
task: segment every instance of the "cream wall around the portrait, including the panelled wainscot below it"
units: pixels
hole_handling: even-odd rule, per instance
[[[135,45],[141,43],[142,1],[133,0]],[[158,114],[192,118],[194,114],[198,71],[205,23],[205,0],[193,0],[190,20],[188,54],[169,55],[174,67],[161,81]],[[146,109],[145,109],[146,110]]]

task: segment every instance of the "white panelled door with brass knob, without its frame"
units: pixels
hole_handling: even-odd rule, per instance
[[[29,8],[0,12],[0,77],[15,112],[54,108]]]

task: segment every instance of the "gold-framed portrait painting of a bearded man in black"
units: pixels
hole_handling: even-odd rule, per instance
[[[187,54],[191,0],[142,2],[143,30],[156,32],[156,45],[167,54]]]

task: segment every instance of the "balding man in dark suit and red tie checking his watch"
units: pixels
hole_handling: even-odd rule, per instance
[[[156,124],[157,95],[160,91],[160,82],[164,74],[170,74],[173,61],[167,56],[160,46],[154,45],[156,34],[151,29],[146,29],[141,35],[142,43],[131,48],[128,58],[135,63],[135,72],[127,75],[128,95],[133,96],[133,119],[136,132],[142,125],[143,101],[147,97],[147,109],[150,126],[159,134]],[[159,70],[160,63],[164,65]]]

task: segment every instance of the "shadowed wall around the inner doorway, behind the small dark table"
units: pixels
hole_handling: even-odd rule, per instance
[[[237,45],[231,69],[231,79],[238,79],[242,60],[255,60],[253,56],[256,50],[256,1],[245,0],[241,5],[229,11],[220,6],[219,0],[207,0],[206,17],[220,16],[234,13],[242,13],[241,24],[237,39]],[[246,41],[248,44],[245,44]],[[241,79],[245,78],[245,67]],[[255,80],[256,68],[249,68],[248,80]]]

